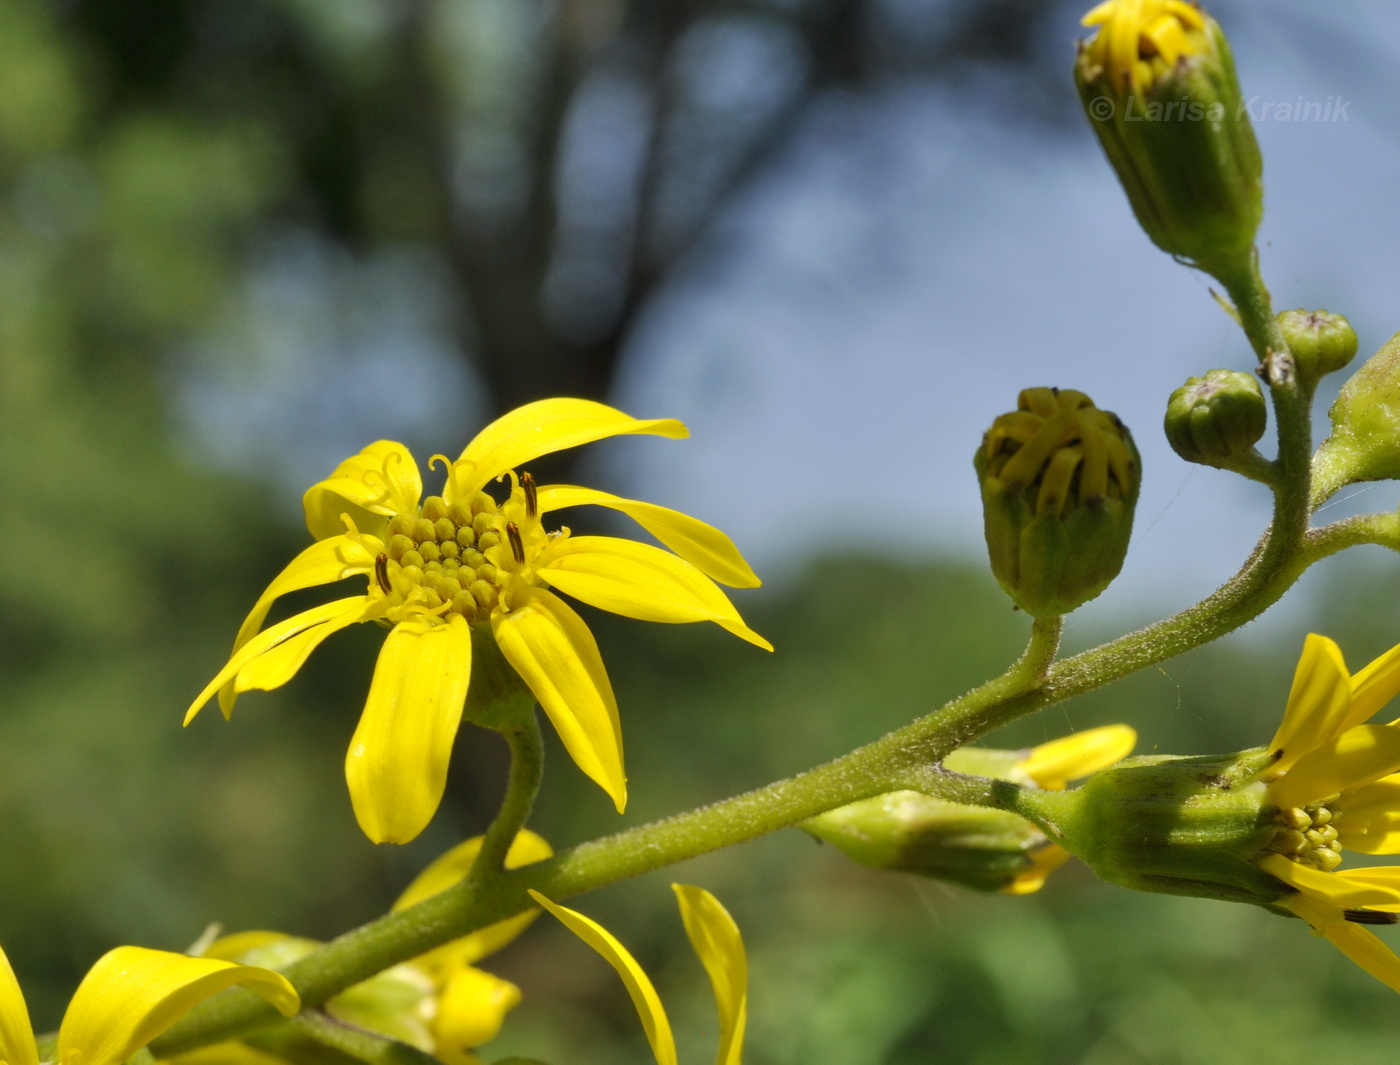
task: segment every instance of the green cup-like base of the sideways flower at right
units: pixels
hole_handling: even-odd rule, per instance
[[[1273,908],[1292,894],[1254,859],[1278,834],[1257,781],[1264,749],[1224,757],[1145,756],[1103,770],[1071,792],[1032,792],[1060,842],[1102,879],[1140,891]]]

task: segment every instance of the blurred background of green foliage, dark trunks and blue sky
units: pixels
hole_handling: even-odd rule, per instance
[[[1343,311],[1373,350],[1400,327],[1400,10],[1215,13],[1264,115],[1275,301]],[[1158,425],[1187,375],[1252,360],[1099,157],[1068,78],[1079,14],[0,0],[0,943],[36,1023],[116,943],[179,949],[210,921],[330,936],[484,827],[504,747],[465,728],[419,841],[356,830],[340,764],[374,627],[232,722],[179,728],[304,544],[301,491],[371,439],[454,452],[546,395],[682,417],[687,442],[554,474],[697,514],[770,578],[738,599],[773,656],[596,619],[634,798],[617,817],[552,747],[535,827],[560,845],[998,672],[1025,620],[986,572],[970,456],[1023,386],[1089,392],[1145,458],[1134,550],[1071,649],[1226,577],[1264,494]],[[1295,101],[1329,119],[1280,120]],[[1331,512],[1394,504],[1380,486]],[[998,739],[1126,721],[1142,750],[1261,743],[1302,635],[1359,666],[1400,640],[1396,589],[1379,551],[1329,563],[1249,631]],[[1299,922],[1078,868],[979,897],[788,833],[578,903],[657,974],[687,1061],[714,1022],[673,877],[745,929],[755,1065],[1390,1065],[1400,1038],[1400,999]],[[487,1058],[650,1061],[566,933],[493,964],[526,998]]]

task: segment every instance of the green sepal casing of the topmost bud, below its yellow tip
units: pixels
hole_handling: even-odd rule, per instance
[[[1252,253],[1264,214],[1263,157],[1229,42],[1210,15],[1201,32],[1201,49],[1144,94],[1084,48],[1074,80],[1138,224],[1163,252],[1219,276]]]

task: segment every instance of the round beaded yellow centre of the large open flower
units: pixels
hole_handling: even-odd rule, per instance
[[[461,614],[484,621],[507,609],[514,588],[536,584],[531,561],[552,539],[539,523],[535,481],[511,477],[511,494],[497,502],[484,491],[470,502],[448,504],[428,495],[414,514],[389,519],[384,549],[370,578],[370,595],[382,593],[385,620],[413,613]]]

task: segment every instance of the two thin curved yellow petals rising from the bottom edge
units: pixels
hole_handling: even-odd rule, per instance
[[[703,887],[690,884],[671,884],[671,887],[680,904],[680,919],[686,925],[690,946],[710,974],[710,985],[714,988],[715,1008],[720,1013],[720,1054],[715,1062],[741,1065],[743,1029],[749,1012],[749,963],[743,953],[739,926],[720,900]],[[671,1022],[661,1006],[657,988],[637,964],[637,959],[596,921],[552,903],[539,891],[532,890],[531,896],[617,970],[641,1017],[657,1065],[676,1065],[676,1041],[671,1034]]]

